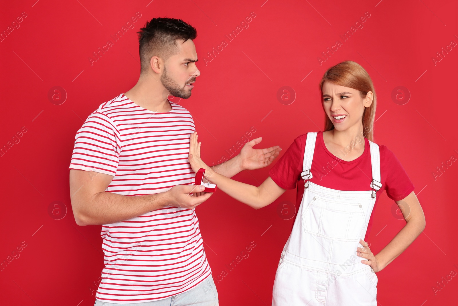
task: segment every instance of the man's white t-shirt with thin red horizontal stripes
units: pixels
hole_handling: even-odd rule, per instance
[[[121,94],[101,104],[78,130],[69,169],[114,178],[106,191],[136,196],[191,185],[188,161],[196,130],[191,114],[170,101],[149,111]],[[195,209],[167,206],[102,225],[104,264],[98,300],[127,304],[185,292],[211,275]]]

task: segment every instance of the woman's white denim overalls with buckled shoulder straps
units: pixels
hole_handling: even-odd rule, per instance
[[[382,187],[379,147],[369,141],[372,190],[330,189],[309,181],[316,134],[307,134],[304,196],[278,264],[272,306],[377,306],[376,273],[356,248],[363,247],[359,241]]]

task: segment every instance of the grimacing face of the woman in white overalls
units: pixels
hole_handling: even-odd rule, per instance
[[[362,127],[364,108],[372,103],[371,91],[361,98],[359,90],[331,82],[324,82],[322,91],[323,108],[334,129],[344,131],[353,126]]]

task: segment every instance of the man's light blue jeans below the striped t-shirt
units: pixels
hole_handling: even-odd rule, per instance
[[[95,300],[94,306],[219,306],[218,292],[212,275],[186,292],[152,302],[115,304]]]

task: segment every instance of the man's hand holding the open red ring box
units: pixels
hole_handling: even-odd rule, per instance
[[[175,185],[165,192],[169,198],[165,205],[193,209],[213,195],[213,192],[203,192],[204,189],[202,185]]]

